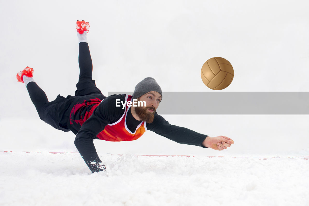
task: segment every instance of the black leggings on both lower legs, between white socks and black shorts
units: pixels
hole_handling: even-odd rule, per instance
[[[89,46],[86,42],[79,43],[78,64],[78,81],[80,82],[83,79],[92,80],[92,60],[90,56]],[[43,120],[43,108],[44,105],[49,102],[45,92],[35,82],[29,82],[27,84],[27,90],[29,92],[32,103],[36,107],[36,111],[38,112],[40,118]]]

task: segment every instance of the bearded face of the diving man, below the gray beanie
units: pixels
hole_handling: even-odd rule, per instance
[[[155,117],[155,111],[159,107],[162,96],[159,92],[148,92],[138,98],[138,101],[145,101],[146,107],[135,107],[135,112],[138,117],[147,123],[151,123]]]

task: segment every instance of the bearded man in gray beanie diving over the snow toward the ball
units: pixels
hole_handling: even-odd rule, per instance
[[[92,60],[87,43],[90,25],[84,20],[77,21],[76,25],[79,79],[74,96],[65,98],[58,95],[56,100],[49,102],[45,92],[34,82],[33,69],[30,67],[19,72],[17,79],[26,84],[40,119],[58,130],[72,131],[76,135],[74,144],[91,172],[105,171],[105,165],[95,150],[94,139],[131,141],[151,130],[178,143],[215,150],[223,150],[234,144],[232,139],[225,136],[209,137],[171,125],[157,114],[162,90],[151,77],[136,85],[133,96],[122,94],[105,97],[92,80]],[[144,102],[144,105],[132,105],[136,99]],[[117,102],[122,104],[116,106]]]

